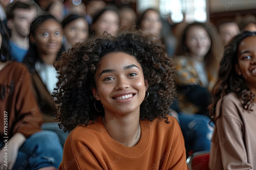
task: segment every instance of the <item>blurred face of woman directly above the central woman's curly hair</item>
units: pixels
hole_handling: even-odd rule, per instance
[[[92,29],[99,36],[102,36],[104,32],[108,34],[115,34],[119,27],[119,16],[112,10],[106,10],[101,16],[93,23]]]

